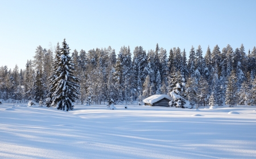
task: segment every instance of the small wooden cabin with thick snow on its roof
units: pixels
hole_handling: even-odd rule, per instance
[[[166,94],[155,94],[150,97],[147,97],[143,100],[144,105],[150,106],[170,106],[169,102],[172,100],[172,97]]]

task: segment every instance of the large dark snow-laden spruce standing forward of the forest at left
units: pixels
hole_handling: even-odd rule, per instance
[[[57,106],[60,110],[72,110],[73,102],[75,102],[79,95],[79,79],[73,75],[73,63],[69,56],[69,46],[67,42],[62,42],[60,48],[60,56],[55,60],[56,70],[53,75],[56,77],[51,81],[52,106]]]

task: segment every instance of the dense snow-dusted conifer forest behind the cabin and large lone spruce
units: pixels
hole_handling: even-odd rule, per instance
[[[59,46],[59,45],[58,45]],[[59,50],[38,46],[26,69],[15,66],[0,68],[0,98],[4,100],[45,100],[51,97],[52,69]],[[54,53],[53,53],[54,52]],[[54,54],[54,55],[53,55]],[[76,102],[102,104],[112,98],[116,104],[141,102],[152,94],[169,94],[172,106],[183,108],[197,105],[254,105],[256,103],[256,49],[245,53],[243,45],[230,45],[220,51],[186,51],[179,47],[170,51],[159,48],[146,50],[137,46],[121,47],[118,53],[110,46],[104,49],[73,50],[73,75],[79,78]],[[56,65],[56,64],[55,64]],[[56,78],[56,77],[55,77]]]

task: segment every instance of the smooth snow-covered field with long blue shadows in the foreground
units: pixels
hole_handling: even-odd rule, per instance
[[[256,158],[256,106],[0,105],[0,158]]]

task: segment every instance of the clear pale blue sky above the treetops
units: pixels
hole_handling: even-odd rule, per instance
[[[256,45],[256,1],[0,1],[0,66],[25,68],[35,49],[66,38],[86,52],[156,43],[169,51],[201,45],[205,53]]]

